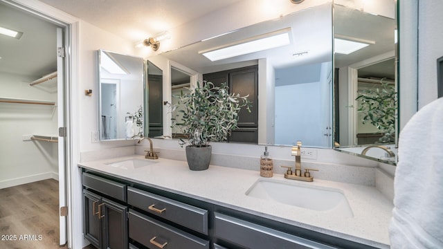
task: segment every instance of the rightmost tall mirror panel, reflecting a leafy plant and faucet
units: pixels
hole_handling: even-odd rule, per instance
[[[335,40],[336,149],[390,164],[396,162],[390,152],[396,152],[398,135],[394,17],[395,8],[383,17],[334,5],[334,37],[367,45],[339,53]]]

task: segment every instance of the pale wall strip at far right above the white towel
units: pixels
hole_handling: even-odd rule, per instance
[[[419,109],[437,99],[437,59],[443,56],[443,4],[419,1],[418,7],[418,100]]]

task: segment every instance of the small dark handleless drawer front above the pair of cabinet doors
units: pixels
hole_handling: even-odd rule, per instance
[[[126,185],[123,183],[117,183],[89,173],[83,173],[82,181],[85,187],[96,190],[102,194],[114,197],[120,201],[126,201],[127,199]]]

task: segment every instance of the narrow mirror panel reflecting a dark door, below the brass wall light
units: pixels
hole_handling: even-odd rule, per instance
[[[145,134],[154,138],[163,135],[163,71],[147,61],[147,86],[145,95]]]

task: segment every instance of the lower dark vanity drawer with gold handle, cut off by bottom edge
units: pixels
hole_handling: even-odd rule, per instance
[[[129,237],[148,248],[209,249],[209,241],[134,210],[129,210],[128,217]]]

